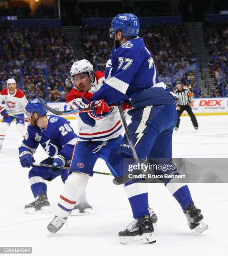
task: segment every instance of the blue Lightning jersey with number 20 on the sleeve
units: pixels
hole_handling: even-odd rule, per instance
[[[47,129],[28,125],[27,134],[19,147],[19,154],[30,151],[33,154],[39,144],[48,156],[62,155],[66,160],[71,159],[77,137],[65,118],[50,115]]]

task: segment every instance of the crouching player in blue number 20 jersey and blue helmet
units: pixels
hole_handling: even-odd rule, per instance
[[[45,180],[52,181],[61,176],[65,182],[68,178],[68,170],[33,166],[35,162],[33,154],[40,144],[49,156],[41,162],[42,164],[55,167],[69,166],[77,136],[65,118],[46,115],[47,110],[38,99],[28,102],[25,110],[30,125],[28,125],[27,134],[19,147],[20,164],[23,167],[33,167],[30,169],[28,177],[35,198],[34,202],[25,205],[25,212],[43,213],[50,211]],[[91,211],[92,207],[88,205],[85,195],[81,195],[80,202],[83,202],[85,212]],[[77,213],[78,209],[75,212]],[[73,210],[72,214],[75,215],[75,212]]]

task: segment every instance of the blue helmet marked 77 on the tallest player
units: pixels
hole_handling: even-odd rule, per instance
[[[123,36],[138,36],[139,20],[133,13],[121,13],[115,16],[111,22],[109,36],[114,37],[115,33],[121,30]]]

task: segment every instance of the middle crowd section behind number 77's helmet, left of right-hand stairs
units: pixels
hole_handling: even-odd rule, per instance
[[[85,26],[81,29],[81,33],[83,47],[87,52],[86,57],[97,69],[104,69],[107,59],[112,55],[113,47],[108,26]],[[195,63],[195,53],[183,25],[153,25],[141,28],[139,36],[143,38],[148,50],[153,53],[158,76],[161,80],[164,79],[165,84],[171,85],[171,73],[173,73],[175,77],[173,82],[182,79],[186,87],[194,86],[195,77],[188,70],[190,65]],[[199,94],[203,96],[202,90]]]

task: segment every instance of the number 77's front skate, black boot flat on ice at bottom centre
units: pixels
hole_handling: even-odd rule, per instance
[[[136,218],[127,228],[119,232],[121,244],[148,244],[155,243],[153,223],[149,215]]]

